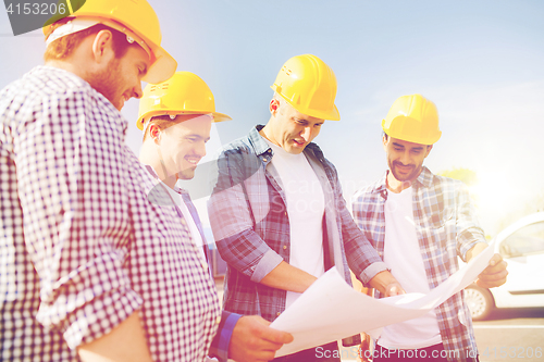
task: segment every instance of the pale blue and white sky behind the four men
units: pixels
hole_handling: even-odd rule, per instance
[[[149,2],[178,71],[202,77],[217,110],[233,117],[217,124],[209,153],[265,123],[269,87],[283,63],[313,53],[338,80],[342,120],[325,122],[316,142],[336,165],[346,199],[385,171],[381,120],[396,98],[415,92],[433,100],[441,115],[443,136],[425,164],[433,172],[477,172],[490,235],[544,192],[542,1]],[[13,37],[0,11],[0,49],[3,87],[42,63],[45,45],[39,30]],[[137,100],[123,114],[127,142],[138,152]]]

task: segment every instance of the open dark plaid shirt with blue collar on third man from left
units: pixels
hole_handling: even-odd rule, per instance
[[[284,191],[270,167],[273,151],[259,135],[261,128],[225,146],[208,209],[218,249],[228,265],[225,310],[273,321],[285,310],[286,291],[259,282],[282,261],[289,262],[289,220]],[[349,265],[368,283],[386,270],[385,263],[354,223],[333,164],[314,143],[304,153],[325,196],[325,269],[336,265],[350,284]]]

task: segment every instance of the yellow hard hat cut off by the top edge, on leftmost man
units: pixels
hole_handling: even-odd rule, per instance
[[[74,18],[73,22],[76,23],[79,20],[86,22],[77,25],[71,21],[52,33],[52,24],[48,22],[42,29],[46,37],[52,36],[52,39],[57,39],[100,23],[126,34],[131,42],[137,41],[148,52],[150,66],[143,80],[164,82],[177,67],[176,61],[161,48],[159,18],[146,0],[87,0],[69,18]]]

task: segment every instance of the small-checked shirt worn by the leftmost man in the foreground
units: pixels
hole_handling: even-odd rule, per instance
[[[215,286],[166,191],[88,83],[38,66],[0,91],[0,360],[78,361],[138,311],[154,361],[203,361]]]

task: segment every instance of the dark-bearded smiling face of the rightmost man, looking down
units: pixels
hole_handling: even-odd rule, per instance
[[[391,170],[387,176],[388,186],[395,188],[395,184],[411,184],[418,178],[423,167],[423,160],[429,155],[433,146],[408,142],[385,135],[383,148]]]

